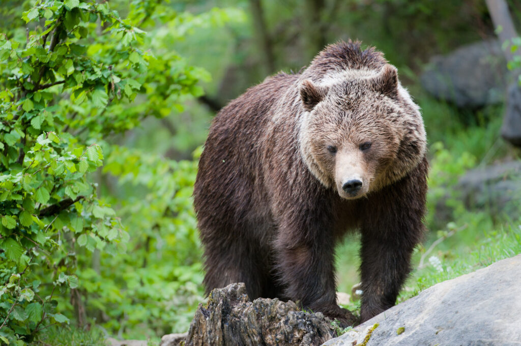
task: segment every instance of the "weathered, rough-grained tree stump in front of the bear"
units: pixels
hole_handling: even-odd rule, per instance
[[[319,345],[331,339],[329,319],[304,312],[292,301],[255,299],[244,284],[231,284],[210,293],[199,304],[185,346]]]

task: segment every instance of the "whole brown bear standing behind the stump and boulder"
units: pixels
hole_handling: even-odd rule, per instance
[[[300,301],[344,324],[334,245],[361,232],[361,321],[393,306],[424,226],[428,163],[419,107],[396,68],[359,42],[300,74],[247,89],[213,121],[194,207],[207,292]]]

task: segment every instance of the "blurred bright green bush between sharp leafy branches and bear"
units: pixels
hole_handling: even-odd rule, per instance
[[[91,268],[78,273],[89,283],[84,288],[90,306],[108,316],[104,327],[111,330],[131,330],[146,322],[135,337],[188,330],[204,299],[192,208],[196,161],[176,162],[113,146],[104,172],[119,177],[118,189],[133,191],[114,197],[122,201],[118,214],[131,240],[127,253],[102,256],[99,274]]]

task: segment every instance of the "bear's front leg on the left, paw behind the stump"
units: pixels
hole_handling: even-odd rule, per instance
[[[276,239],[277,273],[286,287],[284,298],[300,301],[304,309],[337,318],[344,326],[356,322],[337,304],[334,279],[334,242],[320,215],[289,217]]]

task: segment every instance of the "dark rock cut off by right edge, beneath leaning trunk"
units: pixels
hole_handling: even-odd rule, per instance
[[[501,136],[511,144],[521,147],[521,86],[517,83],[508,87]]]

